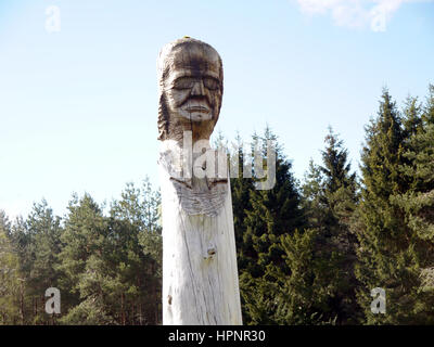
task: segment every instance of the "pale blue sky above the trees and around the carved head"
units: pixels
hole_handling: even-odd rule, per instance
[[[215,133],[268,124],[299,180],[329,126],[358,167],[383,87],[403,105],[434,83],[429,0],[0,0],[0,209],[157,188],[156,57],[183,36],[224,61]]]

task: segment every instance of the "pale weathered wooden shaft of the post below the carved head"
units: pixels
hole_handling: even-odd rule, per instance
[[[187,213],[189,203],[186,201],[190,196],[179,195],[167,172],[167,163],[165,167],[159,163],[163,324],[242,324],[229,179],[224,183],[227,184],[224,187],[226,195],[217,214],[193,215]],[[205,180],[199,182],[193,178],[192,182],[193,185],[204,184]]]

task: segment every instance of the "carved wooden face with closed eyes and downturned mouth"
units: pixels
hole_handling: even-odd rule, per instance
[[[167,106],[190,121],[217,121],[221,106],[220,57],[210,47],[192,43],[175,48],[165,80]]]

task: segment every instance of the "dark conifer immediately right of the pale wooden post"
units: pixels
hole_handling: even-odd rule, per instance
[[[277,138],[267,127],[263,138],[253,137],[253,146],[259,144],[265,170],[267,169],[267,141],[273,141],[276,151],[276,184],[269,190],[250,189],[250,209],[244,209],[240,287],[244,303],[244,322],[252,324],[278,323],[276,295],[277,268],[284,267],[279,237],[292,233],[304,223],[299,208],[297,182],[291,172],[291,162],[276,144]],[[253,166],[254,167],[254,166]],[[257,168],[254,177],[258,181]],[[283,269],[286,273],[289,269]]]

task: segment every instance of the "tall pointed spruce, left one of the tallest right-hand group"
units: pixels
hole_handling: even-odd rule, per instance
[[[360,247],[357,278],[359,304],[367,323],[411,323],[414,243],[401,209],[391,198],[406,192],[408,182],[400,174],[405,164],[406,131],[396,103],[387,90],[380,102],[379,116],[367,127],[367,143],[361,155],[362,201],[354,224]],[[386,292],[386,314],[371,311],[371,290]]]

